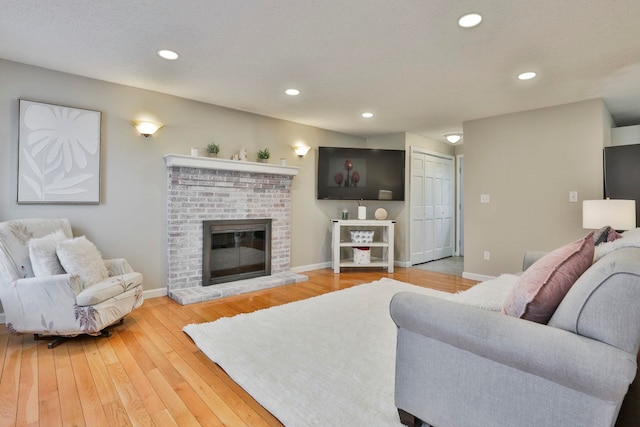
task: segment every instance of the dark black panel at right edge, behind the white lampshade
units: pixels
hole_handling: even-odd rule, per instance
[[[640,144],[604,149],[604,197],[636,201],[640,225]]]

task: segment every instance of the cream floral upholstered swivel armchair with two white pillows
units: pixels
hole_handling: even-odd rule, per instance
[[[142,305],[142,275],[73,239],[66,219],[0,223],[0,301],[9,332],[52,339],[107,335]]]

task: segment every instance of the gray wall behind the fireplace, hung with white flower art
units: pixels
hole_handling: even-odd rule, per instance
[[[65,217],[105,258],[124,257],[145,276],[145,290],[165,289],[166,168],[163,155],[189,154],[215,141],[228,158],[246,147],[250,160],[268,146],[271,161],[298,166],[292,185],[292,266],[330,260],[329,218],[341,206],[317,201],[319,145],[365,146],[362,138],[231,110],[170,95],[0,60],[0,221]],[[102,202],[99,205],[18,205],[18,99],[102,112]],[[138,135],[130,121],[152,116],[165,124],[153,137]],[[314,148],[306,157],[291,146]]]

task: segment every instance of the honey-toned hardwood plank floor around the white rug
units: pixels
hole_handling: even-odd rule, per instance
[[[110,338],[80,337],[52,350],[0,326],[0,426],[281,426],[182,332],[208,322],[390,277],[447,292],[474,281],[412,268],[330,269],[309,280],[181,306],[146,300]]]

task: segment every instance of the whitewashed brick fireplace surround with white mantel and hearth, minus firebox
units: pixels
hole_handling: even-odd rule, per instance
[[[290,271],[297,167],[168,154],[167,293],[191,304],[307,280]],[[203,221],[271,218],[271,274],[202,286]]]

